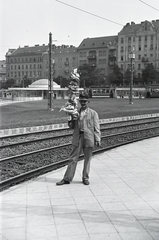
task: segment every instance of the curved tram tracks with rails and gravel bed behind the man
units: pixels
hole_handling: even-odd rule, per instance
[[[101,133],[102,145],[94,149],[94,154],[159,136],[159,118],[101,124]],[[71,138],[72,130],[69,129],[1,138],[1,191],[65,166],[72,149]],[[83,155],[80,156],[82,158]]]

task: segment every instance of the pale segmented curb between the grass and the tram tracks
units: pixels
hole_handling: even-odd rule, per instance
[[[159,117],[159,113],[100,119],[100,124],[135,120],[135,119],[144,119],[144,118],[151,118],[151,117]],[[45,132],[49,130],[57,130],[57,129],[64,129],[64,128],[68,128],[67,123],[52,124],[52,125],[45,125],[45,126],[24,127],[24,128],[2,129],[0,130],[0,137],[14,136],[14,135],[16,136],[18,134],[33,133],[33,132],[36,133],[40,131]]]

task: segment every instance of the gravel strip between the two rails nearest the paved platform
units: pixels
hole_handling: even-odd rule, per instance
[[[140,137],[151,137],[155,133],[159,134],[158,129],[148,129],[147,131],[126,133],[124,135],[110,136],[102,139],[102,146],[100,148],[112,147],[115,144],[125,144],[132,139],[139,139]],[[99,148],[96,148],[99,149]],[[52,163],[57,163],[61,160],[68,159],[72,146],[61,147],[60,149],[48,150],[47,152],[34,153],[34,155],[21,157],[18,160],[10,161],[1,164],[1,181],[17,176],[18,174],[37,169]]]

